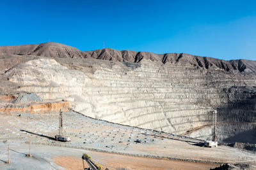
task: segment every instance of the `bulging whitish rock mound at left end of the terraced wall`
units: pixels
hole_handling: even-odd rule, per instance
[[[43,99],[74,101],[74,94],[81,94],[88,77],[81,71],[61,66],[54,59],[30,60],[13,67],[6,74],[10,81],[22,85],[20,90],[35,91]]]

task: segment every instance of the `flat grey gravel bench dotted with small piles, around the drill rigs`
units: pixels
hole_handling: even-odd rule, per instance
[[[197,139],[113,124],[74,111],[63,113],[63,127],[71,142],[62,143],[53,139],[58,134],[58,117],[58,113],[0,115],[2,145],[22,145],[31,140],[33,145],[63,146],[157,159],[256,164],[254,153],[239,148],[205,148],[201,146],[202,141]]]

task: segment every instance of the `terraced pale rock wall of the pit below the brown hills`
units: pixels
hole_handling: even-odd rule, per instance
[[[118,124],[184,134],[211,125],[212,108],[220,122],[256,122],[253,74],[147,60],[56,60],[30,60],[4,74],[17,91],[65,99],[84,115]]]

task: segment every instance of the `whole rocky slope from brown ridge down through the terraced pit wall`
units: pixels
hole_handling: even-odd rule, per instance
[[[56,43],[6,46],[0,52],[2,112],[24,107],[10,107],[17,93],[33,93],[43,99],[29,103],[37,104],[33,112],[70,106],[109,122],[207,139],[212,110],[218,110],[221,141],[256,141],[256,61],[81,52]]]

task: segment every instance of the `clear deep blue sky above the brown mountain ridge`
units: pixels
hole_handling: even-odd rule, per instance
[[[256,1],[0,1],[0,46],[58,42],[256,60]]]

